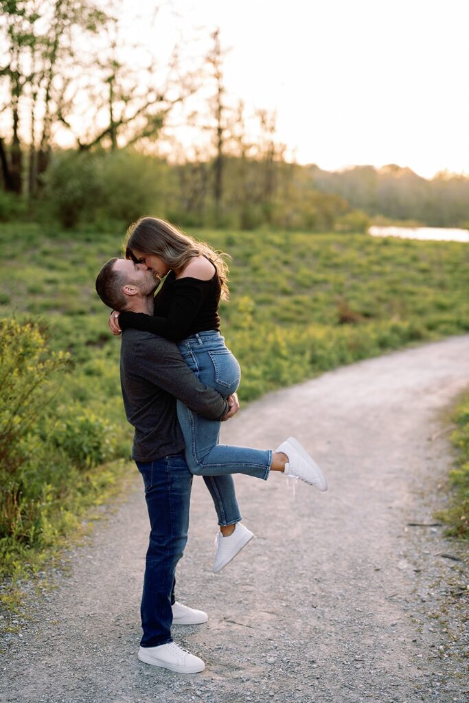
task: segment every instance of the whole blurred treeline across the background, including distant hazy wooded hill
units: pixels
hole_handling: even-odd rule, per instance
[[[398,167],[325,172],[272,158],[261,146],[250,158],[224,155],[223,174],[217,200],[214,159],[172,164],[130,148],[56,150],[32,202],[0,191],[0,221],[105,229],[153,213],[186,227],[245,230],[362,232],[372,222],[469,228],[463,176],[428,181]]]

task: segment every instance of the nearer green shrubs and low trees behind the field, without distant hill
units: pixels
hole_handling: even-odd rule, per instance
[[[364,231],[369,224],[343,198],[311,188],[297,165],[225,157],[219,202],[213,174],[213,161],[171,165],[135,150],[58,152],[29,217],[98,229],[129,224],[143,213],[181,226],[245,230],[266,224],[290,231]],[[0,195],[0,219],[18,217],[28,217],[24,200],[10,197],[2,204]]]

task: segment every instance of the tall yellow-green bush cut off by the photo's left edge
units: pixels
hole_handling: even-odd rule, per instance
[[[68,366],[68,354],[49,352],[34,323],[0,321],[0,555],[40,534],[47,484],[36,467],[48,458],[41,423]]]

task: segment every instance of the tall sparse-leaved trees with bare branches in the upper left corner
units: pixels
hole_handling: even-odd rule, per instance
[[[69,132],[78,151],[152,143],[174,105],[195,92],[195,72],[181,71],[176,49],[162,71],[154,56],[129,64],[135,47],[113,16],[117,2],[106,13],[93,0],[0,0],[0,80],[11,117],[0,135],[6,189],[22,191],[27,148],[34,198],[58,131]]]

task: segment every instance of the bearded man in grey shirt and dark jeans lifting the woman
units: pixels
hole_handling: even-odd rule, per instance
[[[96,291],[111,309],[153,314],[159,279],[145,264],[110,259],[96,278]],[[187,541],[192,475],[176,418],[176,398],[205,418],[229,419],[239,408],[203,386],[173,342],[127,329],[120,354],[122,397],[135,427],[132,458],[143,477],[150,517],[150,543],[141,600],[143,637],[139,659],[178,673],[205,669],[202,659],[173,642],[171,624],[201,624],[207,614],[176,602],[174,574]]]

